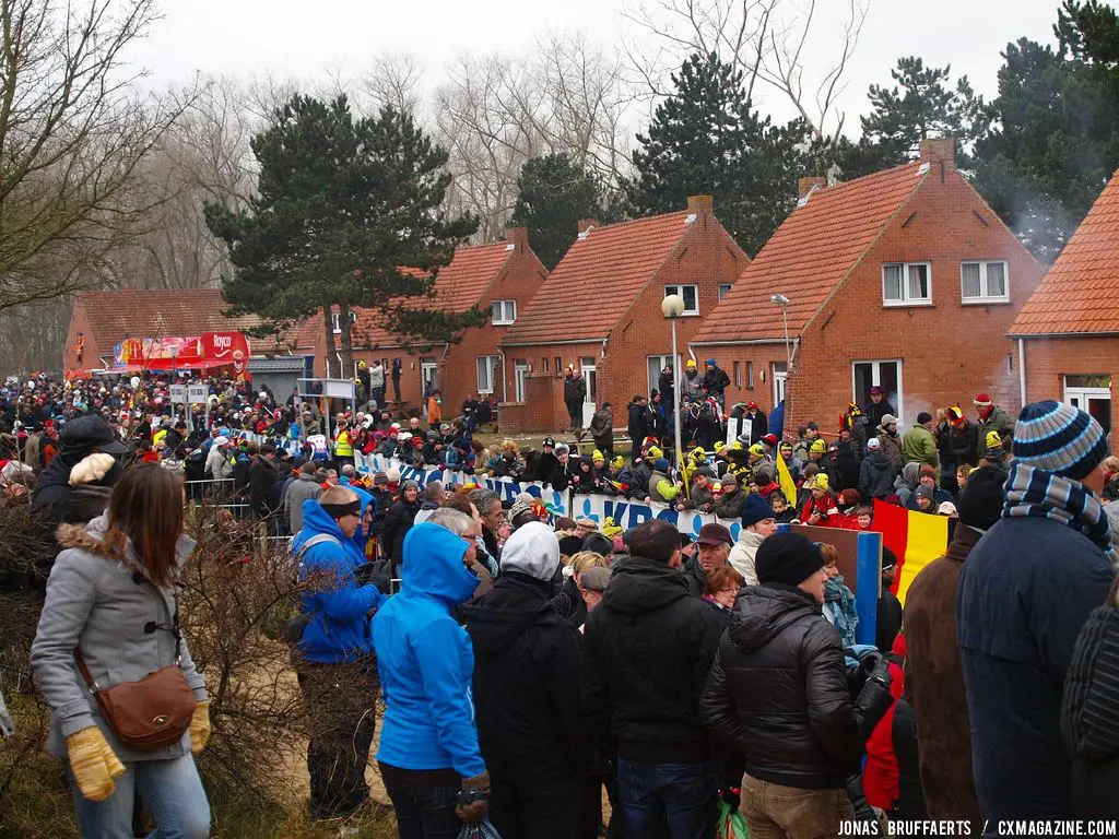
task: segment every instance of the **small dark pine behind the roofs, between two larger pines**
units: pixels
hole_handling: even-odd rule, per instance
[[[581,218],[602,218],[594,176],[564,153],[533,158],[520,169],[511,223],[528,228],[528,241],[551,271],[575,241]]]

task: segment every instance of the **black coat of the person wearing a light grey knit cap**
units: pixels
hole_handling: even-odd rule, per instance
[[[549,583],[506,572],[460,610],[474,648],[478,741],[493,777],[568,781],[586,761],[579,638],[549,593]]]

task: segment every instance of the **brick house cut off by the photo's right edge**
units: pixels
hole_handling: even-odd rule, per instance
[[[1119,386],[1119,173],[1008,330],[1027,402],[1061,399],[1111,432]]]

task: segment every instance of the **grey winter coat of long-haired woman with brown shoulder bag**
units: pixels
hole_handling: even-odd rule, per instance
[[[190,748],[190,733],[172,746],[154,752],[125,748],[112,733],[96,699],[74,662],[79,648],[94,680],[102,688],[124,681],[139,681],[149,673],[175,663],[175,635],[164,630],[144,632],[154,622],[169,625],[175,611],[170,591],[137,583],[142,566],[128,546],[125,562],[102,555],[102,539],[109,517],[95,518],[86,526],[63,525],[58,543],[63,550],[47,579],[47,600],[39,628],[31,644],[31,666],[43,697],[50,706],[50,733],[47,750],[66,756],[66,737],[96,725],[123,763],[168,761]],[[194,550],[194,539],[179,537],[179,567]],[[179,667],[195,691],[206,699],[206,686],[195,669],[186,639],[182,640]]]

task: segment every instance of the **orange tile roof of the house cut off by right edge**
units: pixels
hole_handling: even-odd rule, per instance
[[[1119,172],[1014,319],[1008,334],[1119,332]]]

